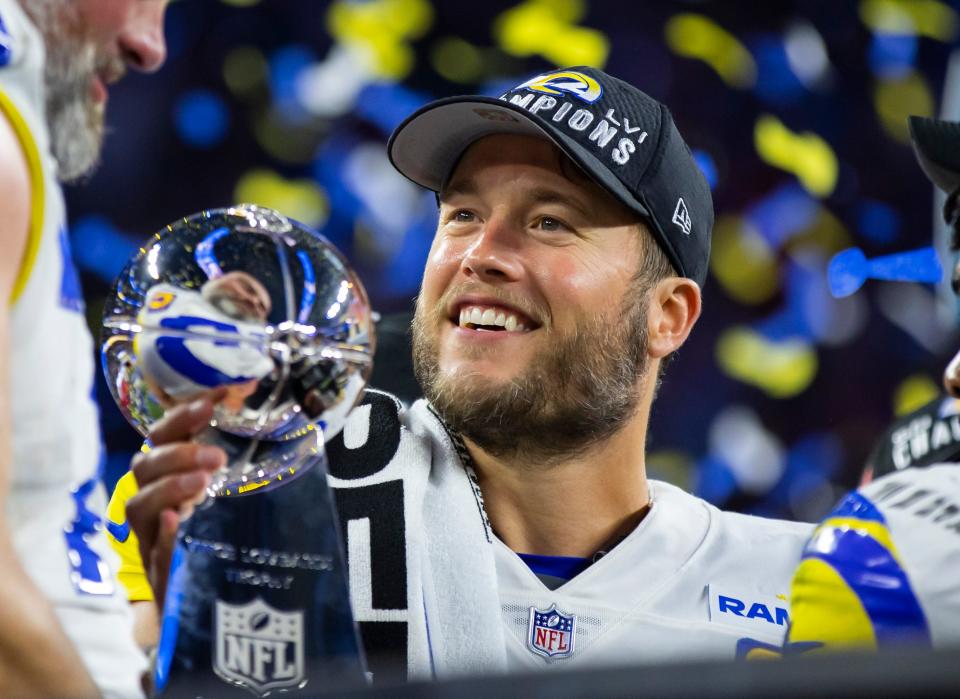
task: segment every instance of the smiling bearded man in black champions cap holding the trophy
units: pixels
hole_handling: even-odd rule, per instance
[[[414,321],[427,400],[370,392],[328,444],[375,678],[391,654],[443,677],[778,643],[810,527],[646,476],[713,223],[666,107],[571,68],[429,104],[388,148],[440,209]],[[154,438],[200,427],[177,411]],[[162,592],[165,522],[199,486],[149,454],[134,472],[127,514]]]

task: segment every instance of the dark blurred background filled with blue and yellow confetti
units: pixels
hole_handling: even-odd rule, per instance
[[[937,395],[956,345],[943,290],[870,281],[838,301],[826,268],[852,246],[933,244],[905,118],[960,117],[943,89],[958,26],[932,0],[174,2],[167,64],[111,91],[104,164],[67,191],[91,324],[142,240],[237,201],[315,225],[376,310],[411,308],[436,208],[390,168],[390,130],[436,97],[596,65],[670,107],[717,212],[649,468],[720,505],[819,517],[893,416]],[[112,485],[139,439],[98,388]]]

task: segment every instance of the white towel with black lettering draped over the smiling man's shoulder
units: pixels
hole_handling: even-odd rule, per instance
[[[482,496],[428,404],[404,411],[389,394],[368,390],[327,451],[351,602],[374,680],[382,658],[402,651],[395,647],[402,641],[410,679],[504,671]]]

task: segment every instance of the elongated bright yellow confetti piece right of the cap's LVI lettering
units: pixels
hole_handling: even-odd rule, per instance
[[[796,175],[811,194],[825,197],[837,186],[837,156],[817,134],[794,133],[776,117],[765,114],[757,119],[753,142],[764,162]]]

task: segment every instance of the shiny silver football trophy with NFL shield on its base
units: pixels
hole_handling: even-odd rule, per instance
[[[164,696],[313,694],[362,683],[324,438],[359,400],[374,330],[359,280],[271,209],[204,211],[154,235],[104,312],[104,371],[145,436],[217,401],[227,453],[182,513],[155,684]]]

